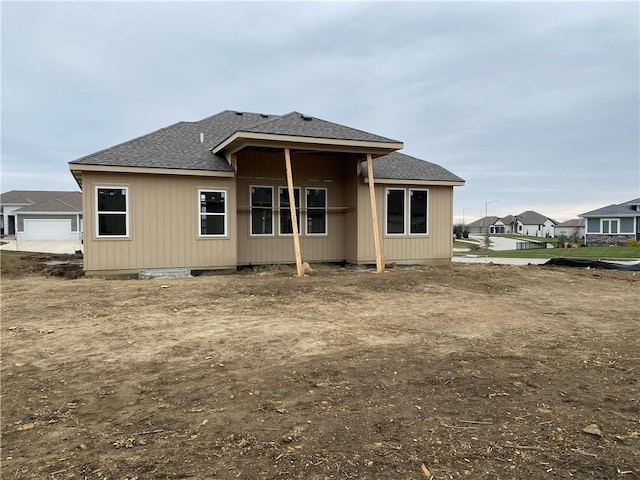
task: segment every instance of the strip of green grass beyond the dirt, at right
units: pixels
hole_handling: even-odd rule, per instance
[[[486,257],[503,258],[581,258],[585,260],[640,260],[638,247],[537,248],[532,250],[482,250]]]

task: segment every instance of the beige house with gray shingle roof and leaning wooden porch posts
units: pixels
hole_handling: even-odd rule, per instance
[[[85,272],[448,263],[464,180],[402,147],[298,112],[227,110],[74,160]]]

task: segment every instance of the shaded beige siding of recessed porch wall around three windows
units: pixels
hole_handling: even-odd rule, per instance
[[[299,187],[302,213],[299,219],[300,249],[308,262],[345,258],[345,176],[356,176],[355,158],[337,154],[291,152],[293,183]],[[242,151],[237,156],[238,263],[291,263],[295,261],[293,237],[279,234],[278,187],[286,187],[284,151]],[[250,188],[274,188],[273,236],[250,235]],[[327,190],[327,234],[306,234],[306,188]],[[355,204],[353,205],[355,207]],[[288,207],[287,207],[288,208]]]

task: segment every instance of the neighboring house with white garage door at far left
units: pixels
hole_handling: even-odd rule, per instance
[[[16,240],[81,240],[82,193],[11,190],[0,195],[2,234]]]

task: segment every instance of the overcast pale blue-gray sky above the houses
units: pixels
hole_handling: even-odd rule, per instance
[[[1,15],[3,192],[77,190],[67,162],[230,109],[401,140],[466,180],[457,222],[640,197],[637,1],[3,1]]]

